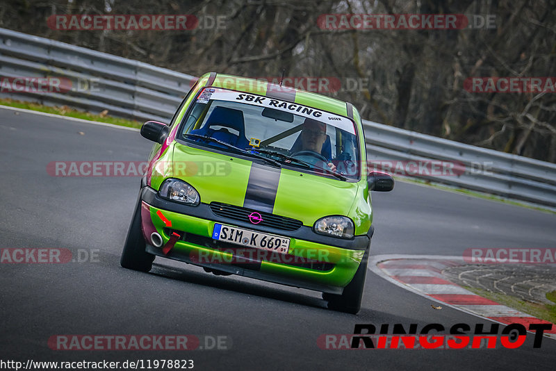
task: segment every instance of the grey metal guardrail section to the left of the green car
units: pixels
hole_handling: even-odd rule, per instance
[[[65,42],[0,28],[0,76],[65,77],[70,92],[2,95],[46,105],[76,106],[139,120],[167,121],[195,77]],[[79,86],[80,84],[89,86]],[[95,89],[91,89],[95,83]]]

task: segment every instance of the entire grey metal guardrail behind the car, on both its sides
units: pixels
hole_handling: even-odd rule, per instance
[[[0,28],[0,76],[56,76],[76,82],[65,93],[2,92],[3,97],[46,105],[65,104],[97,113],[108,110],[111,115],[162,122],[172,117],[196,79],[170,69],[4,28]],[[97,88],[81,87],[80,81],[89,84],[94,81]],[[363,121],[363,128],[371,162],[457,163],[459,171],[454,175],[418,172],[414,176],[556,208],[553,163],[376,122]]]

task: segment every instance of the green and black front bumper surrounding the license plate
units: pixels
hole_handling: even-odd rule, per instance
[[[142,227],[150,254],[288,286],[339,294],[352,280],[370,245],[366,235],[340,240],[317,235],[308,226],[297,231],[282,231],[229,220],[215,215],[207,204],[176,204],[158,197],[149,187],[142,189],[141,200]],[[157,215],[158,211],[171,226]],[[245,254],[246,249],[239,245],[211,238],[215,223],[291,238],[289,252],[277,254],[256,250],[255,254]],[[182,237],[168,254],[164,254],[150,242],[149,236],[155,230],[162,236],[163,245],[170,240],[172,232]],[[334,245],[329,245],[331,242]]]

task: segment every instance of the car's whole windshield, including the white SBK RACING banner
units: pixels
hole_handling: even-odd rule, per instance
[[[352,120],[279,99],[205,88],[183,119],[180,139],[222,151],[236,147],[322,176],[359,179]]]

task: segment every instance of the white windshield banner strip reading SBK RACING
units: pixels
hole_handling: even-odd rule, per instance
[[[205,89],[199,96],[199,101],[204,95]],[[315,108],[302,106],[301,104],[296,104],[288,101],[281,101],[279,99],[261,97],[259,95],[247,94],[243,92],[234,92],[231,90],[224,89],[211,89],[213,92],[207,95],[207,100],[202,103],[207,103],[208,99],[218,100],[218,101],[239,101],[245,104],[251,104],[253,106],[261,106],[274,108],[277,110],[283,110],[284,112],[294,113],[295,115],[300,115],[302,117],[309,117],[311,119],[318,119],[320,122],[325,124],[335,126],[338,129],[347,131],[350,134],[355,134],[355,128],[353,122],[347,117],[340,115],[335,115],[334,113],[328,113]],[[215,90],[215,91],[214,91]],[[200,103],[200,102],[199,102]]]

